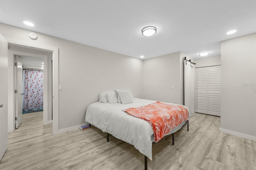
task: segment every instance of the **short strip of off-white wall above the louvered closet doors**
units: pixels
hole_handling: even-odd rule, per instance
[[[221,65],[221,57],[220,55],[214,56],[214,57],[205,57],[201,59],[196,59],[195,62],[196,62],[196,65],[195,65],[196,68]]]

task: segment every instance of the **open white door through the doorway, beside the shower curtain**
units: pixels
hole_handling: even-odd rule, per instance
[[[22,122],[22,61],[15,55],[15,128]]]

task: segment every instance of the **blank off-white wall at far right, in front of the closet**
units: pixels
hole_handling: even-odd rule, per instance
[[[256,140],[256,33],[221,42],[221,132]]]

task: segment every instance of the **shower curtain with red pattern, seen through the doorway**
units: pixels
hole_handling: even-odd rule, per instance
[[[42,70],[23,70],[22,113],[43,111],[43,76]]]

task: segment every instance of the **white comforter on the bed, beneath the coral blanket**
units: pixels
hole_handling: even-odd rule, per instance
[[[156,101],[134,98],[134,103],[126,105],[122,103],[92,103],[87,108],[85,121],[101,129],[103,132],[108,132],[116,138],[134,145],[136,149],[152,160],[152,142],[154,142],[152,127],[147,121],[128,115],[122,110],[154,102]],[[186,109],[188,108],[186,107]],[[190,117],[191,113],[189,110],[188,113]],[[186,121],[168,134],[176,132],[185,123]]]

